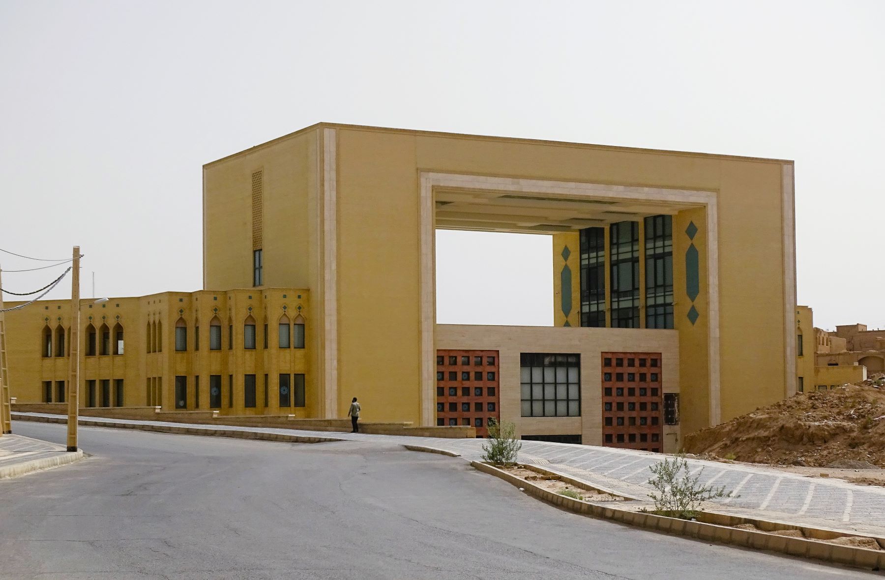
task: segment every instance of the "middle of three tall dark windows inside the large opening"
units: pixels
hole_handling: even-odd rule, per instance
[[[639,222],[609,227],[612,252],[612,328],[639,328]]]

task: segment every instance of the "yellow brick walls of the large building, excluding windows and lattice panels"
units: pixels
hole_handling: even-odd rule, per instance
[[[565,344],[592,335],[581,345],[588,358],[593,349],[659,348],[670,369],[666,389],[681,397],[681,426],[667,444],[673,448],[677,432],[726,421],[796,391],[792,170],[792,162],[777,159],[326,123],[304,128],[204,166],[205,290],[84,306],[84,327],[87,313],[108,317],[110,326],[119,316],[126,354],[84,355],[82,377],[123,378],[127,406],[149,404],[151,393],[159,392],[158,404],[174,410],[174,377],[188,376],[186,408],[208,409],[208,377],[221,375],[222,413],[335,418],[356,396],[373,421],[433,425],[435,349],[491,348],[506,334],[475,327],[453,335],[437,327],[435,228],[530,232],[553,236],[555,328],[520,330],[521,342],[506,346],[511,364],[518,360],[514,349],[529,348],[533,333],[550,348],[559,344],[553,332],[566,333]],[[657,213],[672,216],[673,329],[645,328],[643,217]],[[639,328],[581,329],[579,231],[619,220],[639,224]],[[263,279],[253,287],[258,250]],[[468,261],[483,259],[496,257]],[[569,284],[565,294],[563,281]],[[604,310],[605,325],[612,326],[607,294]],[[304,349],[275,347],[283,313],[306,321]],[[43,381],[66,380],[65,360],[41,357],[39,340],[44,317],[54,329],[59,322],[67,327],[66,316],[65,303],[55,301],[9,315],[12,394],[19,400],[42,400]],[[220,352],[208,350],[214,316],[222,323]],[[254,351],[240,343],[248,316],[258,329]],[[199,351],[173,351],[179,318],[189,333],[199,321]],[[266,350],[260,344],[265,320]],[[162,324],[162,352],[147,352],[154,323]],[[229,326],[235,329],[230,351]],[[482,340],[483,329],[489,340]],[[459,344],[457,336],[470,344]],[[502,367],[502,377],[518,370]],[[287,373],[304,374],[304,407],[274,402],[275,377]],[[244,375],[257,376],[254,407],[243,406]],[[154,389],[152,378],[162,379],[161,389]],[[538,421],[526,421],[512,407],[514,390],[519,384],[501,383],[502,415],[516,419],[520,429],[538,429]],[[585,443],[598,443],[596,398],[583,400],[581,433]],[[568,421],[574,419],[541,422],[555,431]]]

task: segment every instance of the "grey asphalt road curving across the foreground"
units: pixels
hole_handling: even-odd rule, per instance
[[[65,442],[64,425],[13,430]],[[81,427],[81,448],[0,482],[0,577],[871,577],[571,514],[393,445]]]

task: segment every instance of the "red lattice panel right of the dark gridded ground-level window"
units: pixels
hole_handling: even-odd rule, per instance
[[[664,393],[660,352],[603,352],[603,445],[660,452]]]

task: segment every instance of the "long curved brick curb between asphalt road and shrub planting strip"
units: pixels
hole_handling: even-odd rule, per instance
[[[856,566],[872,570],[885,568],[885,551],[868,550],[850,545],[831,544],[821,540],[807,537],[789,537],[771,534],[765,531],[739,530],[731,526],[722,526],[715,523],[690,522],[678,518],[666,517],[658,514],[645,514],[620,507],[609,507],[591,504],[580,499],[573,499],[559,495],[535,485],[517,476],[512,476],[503,469],[482,463],[471,461],[473,468],[503,479],[505,482],[522,488],[527,493],[543,499],[555,506],[563,507],[577,514],[627,525],[657,530],[680,536],[696,537],[707,542],[720,542],[722,544],[739,545],[757,550],[785,553],[790,556],[808,558],[811,560],[825,561],[833,564]],[[615,503],[615,502],[607,502]],[[736,517],[736,516],[735,516]],[[848,534],[845,534],[847,536]],[[862,534],[858,534],[862,536]]]

